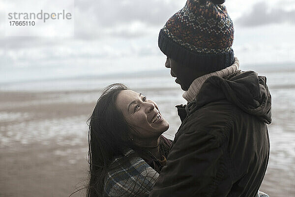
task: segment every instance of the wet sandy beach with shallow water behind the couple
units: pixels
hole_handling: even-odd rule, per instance
[[[87,120],[100,90],[0,91],[0,197],[67,197],[86,183]],[[179,87],[136,90],[158,103],[170,122],[164,135],[173,138],[180,124],[174,106],[184,103]],[[270,197],[295,195],[295,100],[294,89],[286,90],[271,89],[271,153],[261,186]]]

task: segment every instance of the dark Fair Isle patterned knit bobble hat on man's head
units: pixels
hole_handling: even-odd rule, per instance
[[[234,63],[234,26],[225,0],[187,0],[161,29],[158,45],[177,63],[214,72]]]

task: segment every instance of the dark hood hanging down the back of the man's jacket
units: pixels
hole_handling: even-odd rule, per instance
[[[218,76],[209,77],[196,99],[192,102],[198,109],[207,103],[227,99],[248,114],[257,116],[266,124],[271,123],[271,95],[266,85],[266,77],[254,71],[245,71],[226,80]]]

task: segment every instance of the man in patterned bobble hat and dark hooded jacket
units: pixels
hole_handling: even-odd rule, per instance
[[[187,0],[160,31],[188,103],[150,197],[255,197],[265,176],[271,96],[266,77],[238,70],[223,2]]]

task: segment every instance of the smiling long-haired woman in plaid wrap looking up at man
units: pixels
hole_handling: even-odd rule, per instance
[[[123,84],[106,87],[89,119],[87,196],[148,197],[172,145],[161,135],[168,128],[154,101]]]

